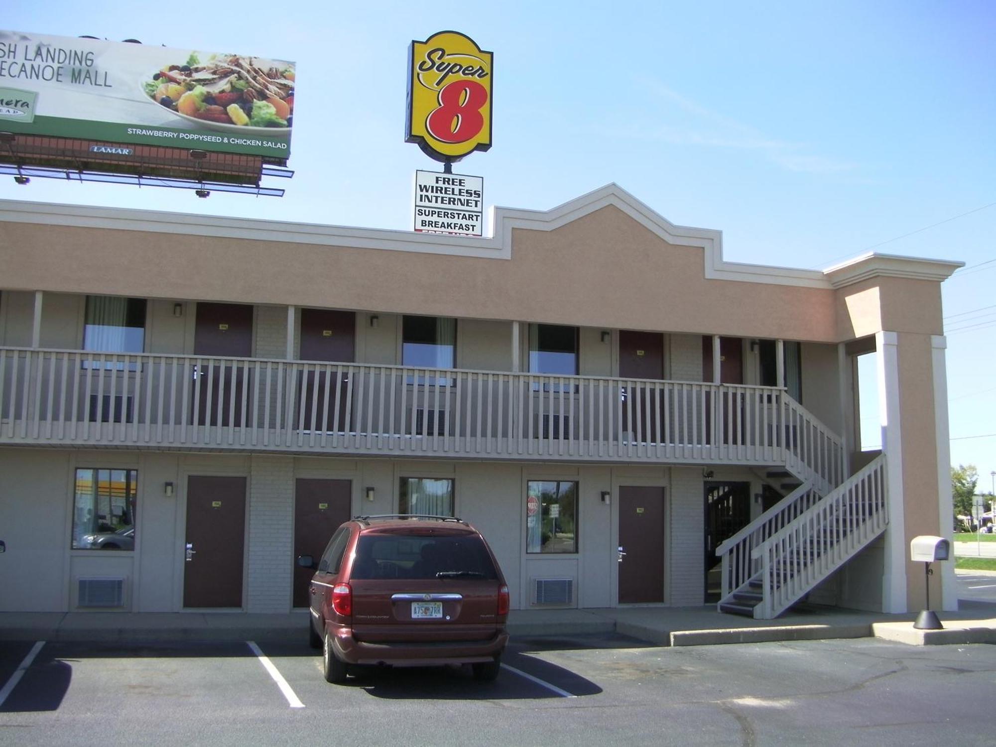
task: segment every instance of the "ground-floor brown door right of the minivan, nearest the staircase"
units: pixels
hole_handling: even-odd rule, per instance
[[[664,489],[620,487],[620,604],[664,601]]]

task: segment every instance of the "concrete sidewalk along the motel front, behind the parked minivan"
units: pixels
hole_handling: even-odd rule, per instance
[[[884,615],[808,607],[760,621],[716,612],[715,606],[604,610],[514,610],[515,637],[618,632],[656,645],[705,645],[772,640],[877,636],[904,643],[996,643],[996,604],[960,603],[938,613],[943,630],[915,630],[915,614]],[[244,613],[0,613],[0,640],[162,642],[305,640],[306,611]]]

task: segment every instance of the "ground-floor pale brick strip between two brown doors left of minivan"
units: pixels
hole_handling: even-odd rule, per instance
[[[291,609],[294,459],[253,456],[249,473],[249,574],[246,609]]]

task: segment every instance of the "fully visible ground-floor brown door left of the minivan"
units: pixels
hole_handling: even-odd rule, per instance
[[[183,607],[242,607],[246,478],[187,478]]]

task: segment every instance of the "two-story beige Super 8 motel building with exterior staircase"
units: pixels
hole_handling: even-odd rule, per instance
[[[733,264],[615,185],[492,219],[0,203],[0,611],[286,613],[387,513],[472,522],[519,609],[922,606],[959,263]]]

